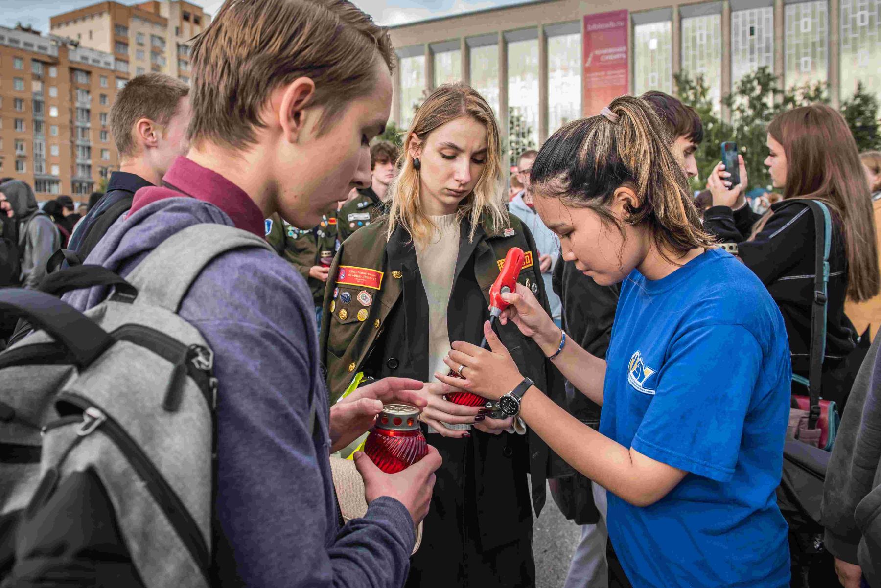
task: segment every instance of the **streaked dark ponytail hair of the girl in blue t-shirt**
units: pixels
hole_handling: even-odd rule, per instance
[[[533,193],[591,209],[624,234],[609,208],[618,187],[630,187],[639,204],[626,207],[625,222],[648,225],[660,254],[713,247],[655,110],[634,96],[609,109],[616,122],[602,114],[572,121],[544,143],[532,164]]]

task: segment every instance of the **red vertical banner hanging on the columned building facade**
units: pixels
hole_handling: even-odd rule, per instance
[[[603,12],[584,17],[584,70],[581,76],[584,116],[599,114],[603,107],[630,89],[627,55],[627,11]]]

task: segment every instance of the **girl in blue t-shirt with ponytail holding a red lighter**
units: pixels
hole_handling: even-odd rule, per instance
[[[603,405],[599,432],[524,380],[489,323],[492,351],[455,342],[446,359],[464,381],[435,375],[505,396],[508,414],[609,490],[609,537],[634,585],[788,586],[774,494],[786,329],[765,286],[702,230],[662,129],[646,102],[618,98],[559,129],[532,166],[563,259],[596,283],[624,282],[606,359],[568,340],[521,285],[500,317]]]

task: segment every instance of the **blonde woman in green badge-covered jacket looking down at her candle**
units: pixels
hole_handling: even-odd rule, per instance
[[[520,282],[547,307],[535,242],[503,205],[501,157],[486,100],[468,85],[441,85],[404,136],[388,216],[346,239],[330,267],[320,347],[331,401],[353,379],[427,382],[419,419],[443,465],[408,586],[535,585],[532,506],[544,504],[547,446],[513,418],[455,404],[448,394],[461,390],[432,377],[451,341],[480,341],[509,248],[528,252]],[[530,377],[548,381],[534,342],[513,326],[500,337]]]

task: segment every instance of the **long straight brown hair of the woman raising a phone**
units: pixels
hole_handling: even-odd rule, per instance
[[[869,182],[848,123],[834,108],[813,104],[775,116],[768,135],[786,153],[783,199],[818,199],[833,209],[843,226],[848,298],[872,298],[881,290],[875,223]],[[756,224],[753,235],[768,217]]]

